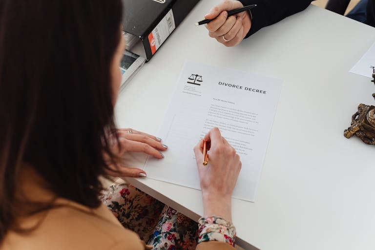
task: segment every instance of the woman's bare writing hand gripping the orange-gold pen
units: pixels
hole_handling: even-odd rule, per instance
[[[220,216],[231,221],[231,196],[241,170],[236,150],[221,136],[217,127],[204,137],[208,142],[208,165],[203,165],[203,140],[194,147],[204,216]]]

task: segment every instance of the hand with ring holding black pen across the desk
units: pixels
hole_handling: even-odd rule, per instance
[[[247,8],[250,10],[255,6],[255,4],[249,5]],[[222,1],[205,15],[207,21],[203,20],[201,23],[207,22],[205,26],[210,37],[227,47],[235,46],[245,38],[251,27],[250,12],[243,11],[243,8],[240,1]]]

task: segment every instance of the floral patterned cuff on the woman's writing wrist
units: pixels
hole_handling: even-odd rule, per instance
[[[198,220],[198,224],[198,244],[214,240],[226,242],[234,247],[236,229],[231,222],[213,215],[205,218],[201,217]]]

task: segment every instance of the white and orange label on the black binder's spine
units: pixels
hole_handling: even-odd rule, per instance
[[[152,55],[155,54],[156,50],[167,40],[167,37],[176,28],[174,23],[174,17],[172,9],[170,9],[167,15],[159,22],[154,30],[148,35],[148,42],[150,43]]]

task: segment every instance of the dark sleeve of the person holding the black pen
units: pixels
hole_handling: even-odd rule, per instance
[[[251,10],[251,28],[245,38],[258,30],[306,9],[312,0],[239,0],[244,6],[256,4]]]

